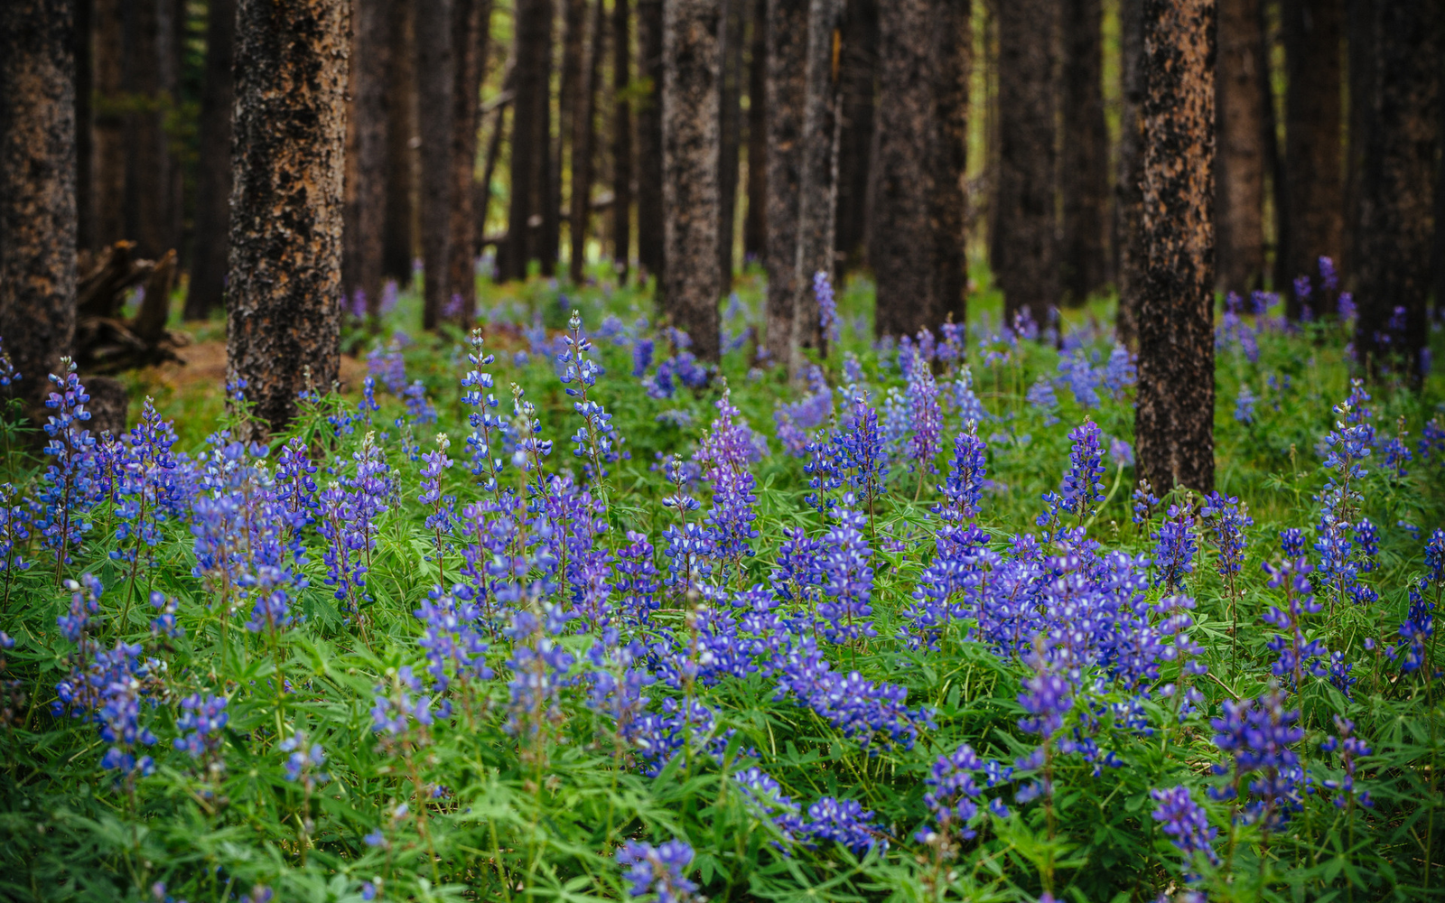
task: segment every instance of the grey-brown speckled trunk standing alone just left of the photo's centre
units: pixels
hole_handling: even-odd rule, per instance
[[[715,361],[718,347],[718,27],[721,0],[663,1],[663,311]]]

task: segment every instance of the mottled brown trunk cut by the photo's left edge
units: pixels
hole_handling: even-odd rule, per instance
[[[74,12],[0,3],[0,340],[36,422],[75,337]]]

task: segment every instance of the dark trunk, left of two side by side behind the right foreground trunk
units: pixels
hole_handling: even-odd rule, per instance
[[[1059,296],[1053,224],[1053,0],[998,4],[998,194],[993,269],[1004,318]]]

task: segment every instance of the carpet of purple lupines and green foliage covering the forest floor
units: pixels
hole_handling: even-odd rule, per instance
[[[877,345],[853,283],[798,386],[751,276],[712,370],[631,289],[487,286],[483,341],[405,293],[264,446],[244,387],[114,442],[61,380],[7,432],[0,896],[1436,896],[1439,381],[1266,301],[1218,496],[1136,483],[1098,311],[987,293]]]

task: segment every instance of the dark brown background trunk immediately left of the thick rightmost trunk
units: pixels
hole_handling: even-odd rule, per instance
[[[1285,185],[1289,231],[1276,251],[1274,286],[1316,276],[1321,256],[1340,260],[1344,228],[1340,33],[1344,0],[1283,0]]]

